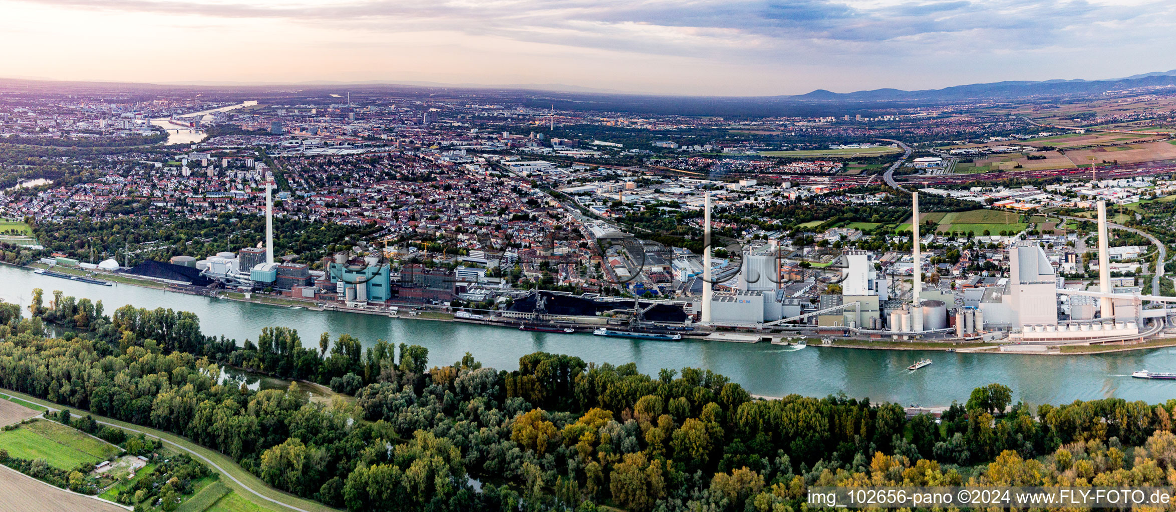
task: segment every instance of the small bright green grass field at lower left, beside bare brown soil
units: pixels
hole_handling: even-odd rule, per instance
[[[98,463],[119,452],[114,445],[46,419],[0,432],[0,447],[8,450],[12,457],[45,459],[51,466],[62,470],[72,470],[82,463]]]

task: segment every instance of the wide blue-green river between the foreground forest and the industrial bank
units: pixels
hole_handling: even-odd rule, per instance
[[[777,346],[767,343],[657,342],[608,338],[590,334],[522,332],[507,328],[400,319],[338,311],[309,311],[183,295],[115,283],[113,287],[40,276],[32,270],[0,265],[0,298],[27,305],[33,288],[101,299],[106,314],[133,304],[172,308],[200,316],[206,335],[256,339],[262,326],[286,325],[298,330],[303,344],[318,345],[319,335],[349,332],[365,345],[383,338],[429,349],[429,364],[445,365],[473,352],[485,365],[514,370],[519,357],[534,351],[577,356],[587,362],[634,362],[642,373],[656,376],[662,368],[695,366],[714,370],[763,396],[799,393],[823,397],[844,392],[874,402],[902,405],[949,405],[967,402],[974,388],[1002,383],[1014,399],[1029,404],[1069,403],[1075,399],[1121,397],[1160,403],[1176,397],[1176,382],[1131,378],[1147,369],[1176,371],[1176,348],[1085,356],[1033,356],[1001,353],[947,353],[940,351],[860,350],[820,346]],[[27,310],[26,310],[27,315]],[[915,361],[934,364],[907,371]]]

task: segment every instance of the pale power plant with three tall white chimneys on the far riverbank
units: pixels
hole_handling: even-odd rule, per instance
[[[902,279],[888,279],[877,270],[874,255],[846,250],[817,274],[840,282],[838,295],[799,298],[808,281],[783,279],[779,241],[754,245],[742,254],[739,279],[733,287],[714,290],[710,257],[710,196],[703,214],[703,294],[701,323],[753,330],[782,329],[844,332],[871,338],[970,339],[1008,338],[1029,343],[1087,343],[1140,338],[1158,331],[1168,314],[1142,308],[1143,301],[1176,302],[1176,297],[1114,294],[1110,287],[1109,223],[1105,203],[1098,202],[1098,291],[1065,288],[1049,255],[1038,242],[1014,240],[1008,245],[1009,277],[963,298],[956,290],[923,288],[923,248],[918,193],[911,195],[911,288],[909,299]],[[803,252],[801,248],[801,252]],[[795,255],[793,255],[795,258]],[[880,267],[878,267],[880,268]],[[840,276],[835,272],[840,270]],[[895,275],[894,271],[890,274]],[[901,274],[900,274],[901,276]],[[837,279],[840,277],[840,281]],[[814,279],[808,277],[807,279]],[[1060,315],[1060,298],[1069,297],[1068,318]],[[1063,299],[1061,303],[1065,303]],[[967,304],[965,304],[967,303]],[[1097,311],[1096,311],[1097,304]],[[1097,317],[1095,314],[1097,312]],[[1176,311],[1174,311],[1176,312]],[[1148,328],[1149,318],[1151,328]]]

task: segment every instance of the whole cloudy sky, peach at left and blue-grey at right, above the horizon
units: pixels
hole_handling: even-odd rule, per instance
[[[0,76],[684,95],[1176,68],[1171,0],[0,0]]]

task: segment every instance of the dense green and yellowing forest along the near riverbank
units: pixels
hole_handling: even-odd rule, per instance
[[[753,398],[709,370],[642,375],[535,352],[516,370],[421,346],[265,328],[240,345],[199,318],[38,290],[0,306],[0,388],[168,430],[270,485],[352,511],[755,511],[813,485],[1165,485],[1172,413],[1107,398],[1031,407],[1001,384],[940,422],[893,403]],[[60,338],[46,325],[68,325]],[[352,400],[254,391],[222,368],[326,382]]]

